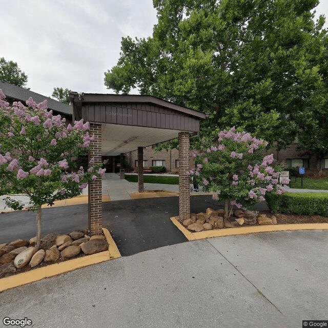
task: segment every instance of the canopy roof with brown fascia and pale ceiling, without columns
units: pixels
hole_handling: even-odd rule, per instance
[[[70,94],[75,119],[101,123],[102,155],[116,156],[198,132],[208,114],[153,96]]]

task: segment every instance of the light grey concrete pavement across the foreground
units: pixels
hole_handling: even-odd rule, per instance
[[[283,327],[326,320],[328,231],[190,241],[1,294],[45,327]]]

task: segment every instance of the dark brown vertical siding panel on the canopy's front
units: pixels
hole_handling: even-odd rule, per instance
[[[148,104],[88,104],[82,106],[82,117],[91,122],[199,131],[199,119]]]

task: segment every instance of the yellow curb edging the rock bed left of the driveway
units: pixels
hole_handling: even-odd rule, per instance
[[[46,265],[45,267],[34,269],[28,272],[19,273],[6,278],[0,279],[0,293],[11,288],[22,286],[31,282],[42,280],[44,278],[54,277],[63,273],[88,267],[91,264],[97,264],[108,261],[110,259],[116,259],[120,257],[120,253],[117,246],[110,235],[109,231],[103,228],[103,232],[109,243],[109,250],[87,255],[83,257],[74,258],[60,263]]]

